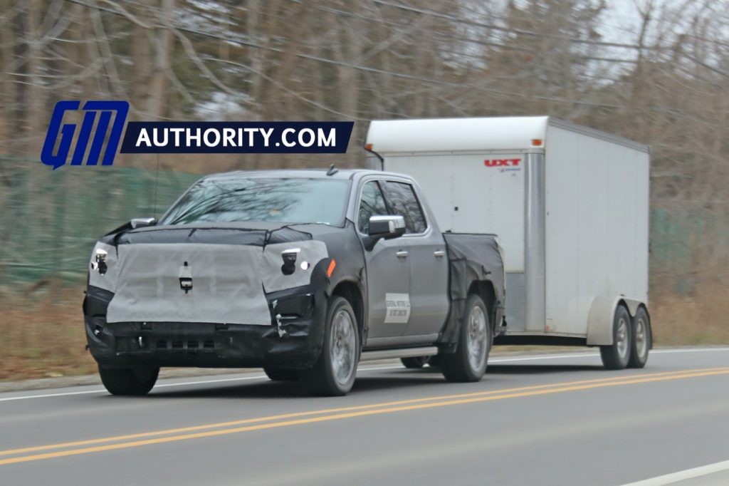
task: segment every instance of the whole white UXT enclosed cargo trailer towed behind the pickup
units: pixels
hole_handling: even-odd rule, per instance
[[[375,120],[366,147],[415,177],[443,231],[501,239],[496,344],[599,346],[608,368],[644,366],[649,147],[552,117]]]

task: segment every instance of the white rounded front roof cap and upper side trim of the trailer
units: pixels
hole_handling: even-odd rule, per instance
[[[648,151],[638,142],[549,116],[373,120],[365,143],[381,154],[542,150],[549,126]]]

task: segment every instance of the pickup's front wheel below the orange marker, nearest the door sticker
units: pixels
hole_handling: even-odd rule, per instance
[[[354,385],[359,351],[359,330],[352,306],[345,298],[332,297],[324,323],[321,355],[316,365],[305,373],[309,393],[346,395]]]

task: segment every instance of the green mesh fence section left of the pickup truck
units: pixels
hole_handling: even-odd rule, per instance
[[[117,166],[52,171],[0,158],[1,284],[82,278],[99,236],[132,217],[159,217],[199,178]]]

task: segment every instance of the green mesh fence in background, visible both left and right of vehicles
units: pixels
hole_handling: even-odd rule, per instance
[[[95,240],[132,217],[159,217],[200,175],[120,166],[52,171],[0,157],[0,286],[81,279]],[[650,268],[689,293],[701,259],[726,252],[729,223],[706,209],[652,209]]]

